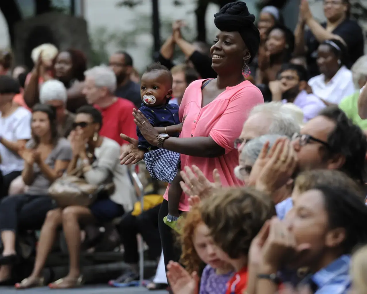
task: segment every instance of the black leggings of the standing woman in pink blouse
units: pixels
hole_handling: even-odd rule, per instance
[[[181,256],[181,246],[174,236],[174,231],[163,222],[163,218],[167,216],[167,214],[168,201],[163,200],[158,214],[158,228],[162,243],[164,265],[166,266],[166,271],[168,262],[170,262],[171,260],[179,261]],[[179,214],[182,214],[182,211],[179,211]]]

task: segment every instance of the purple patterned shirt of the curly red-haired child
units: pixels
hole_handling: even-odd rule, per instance
[[[199,294],[224,294],[226,293],[227,282],[232,276],[232,272],[224,275],[217,275],[215,269],[207,265],[201,275]]]

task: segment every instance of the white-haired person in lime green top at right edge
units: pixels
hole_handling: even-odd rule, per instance
[[[356,87],[356,92],[345,97],[340,103],[339,108],[345,112],[348,118],[352,119],[353,123],[359,126],[362,130],[367,130],[367,120],[361,119],[358,115],[358,98],[360,89],[367,82],[367,55],[363,55],[353,64],[352,68],[353,83]]]

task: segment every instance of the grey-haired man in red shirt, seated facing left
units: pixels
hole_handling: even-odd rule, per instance
[[[132,111],[134,103],[115,96],[116,75],[105,65],[88,69],[83,94],[87,102],[102,112],[102,128],[99,135],[115,140],[121,146],[128,144],[120,137],[124,133],[137,139],[136,125]]]

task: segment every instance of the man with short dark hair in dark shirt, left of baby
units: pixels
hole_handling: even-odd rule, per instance
[[[130,74],[132,72],[131,56],[124,51],[117,51],[110,56],[109,66],[113,69],[117,78],[115,95],[130,100],[138,109],[142,103],[140,85],[130,80]]]

